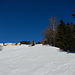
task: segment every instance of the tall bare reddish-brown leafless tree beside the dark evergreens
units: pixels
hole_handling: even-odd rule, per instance
[[[49,44],[53,46],[55,46],[57,25],[58,25],[57,18],[51,17],[49,19],[48,27],[42,32],[42,35],[48,39]]]

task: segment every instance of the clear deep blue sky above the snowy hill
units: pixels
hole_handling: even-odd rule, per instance
[[[0,42],[42,40],[49,18],[75,23],[75,0],[0,0]]]

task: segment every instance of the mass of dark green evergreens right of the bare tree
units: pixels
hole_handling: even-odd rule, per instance
[[[57,28],[56,45],[65,51],[75,52],[75,25],[61,20]]]

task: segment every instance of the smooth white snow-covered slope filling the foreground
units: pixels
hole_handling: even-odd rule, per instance
[[[51,46],[4,46],[0,75],[75,75],[75,54]]]

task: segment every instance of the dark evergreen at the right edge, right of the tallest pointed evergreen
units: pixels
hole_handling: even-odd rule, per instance
[[[74,24],[68,24],[66,27],[67,50],[75,52]]]

